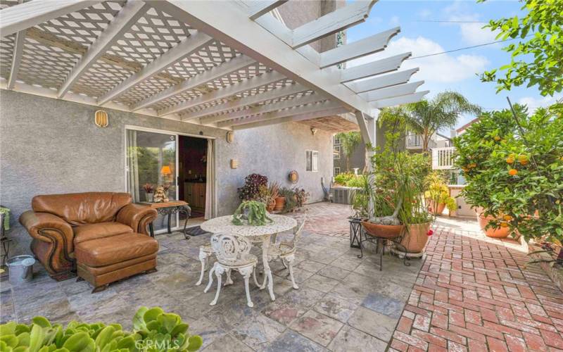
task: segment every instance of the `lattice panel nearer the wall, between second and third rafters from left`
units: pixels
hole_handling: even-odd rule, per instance
[[[132,70],[99,60],[80,77],[71,91],[99,98],[132,74]]]

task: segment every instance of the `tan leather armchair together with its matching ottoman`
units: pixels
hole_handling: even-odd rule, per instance
[[[128,193],[89,192],[35,196],[20,223],[31,249],[53,279],[78,275],[94,291],[139,272],[156,270],[158,241],[146,227],[154,209]]]

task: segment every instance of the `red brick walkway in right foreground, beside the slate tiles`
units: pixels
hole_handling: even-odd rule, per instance
[[[436,229],[391,351],[561,351],[563,293],[512,240]]]

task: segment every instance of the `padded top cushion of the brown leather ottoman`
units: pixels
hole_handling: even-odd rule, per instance
[[[77,262],[94,268],[156,252],[158,252],[158,241],[137,232],[83,241],[75,246]]]

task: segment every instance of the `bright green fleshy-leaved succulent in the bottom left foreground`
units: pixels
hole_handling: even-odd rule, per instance
[[[197,351],[201,337],[188,334],[179,315],[158,307],[141,307],[133,318],[133,331],[119,324],[69,322],[66,329],[35,317],[30,325],[8,322],[0,325],[0,351],[33,352],[127,352]]]

